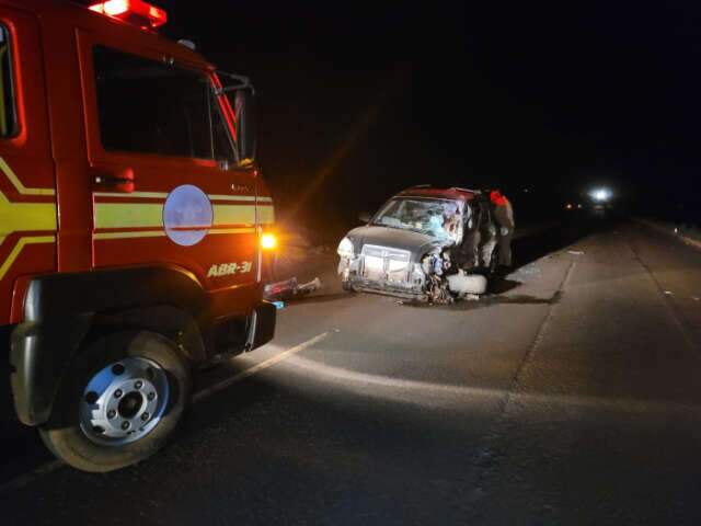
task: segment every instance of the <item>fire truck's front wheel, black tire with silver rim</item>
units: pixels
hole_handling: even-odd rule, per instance
[[[149,331],[112,333],[70,365],[39,433],[69,466],[112,471],[165,445],[189,396],[191,373],[172,341]]]

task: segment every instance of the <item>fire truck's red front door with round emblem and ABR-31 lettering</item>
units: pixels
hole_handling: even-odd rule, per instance
[[[255,173],[238,170],[212,72],[152,35],[79,33],[93,265],[176,265],[226,291],[257,282]]]

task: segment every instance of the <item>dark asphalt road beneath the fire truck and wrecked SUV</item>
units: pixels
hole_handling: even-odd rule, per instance
[[[620,224],[516,255],[448,307],[344,294],[319,256],[325,289],[202,375],[153,459],[80,473],[8,430],[0,522],[700,524],[701,252]]]

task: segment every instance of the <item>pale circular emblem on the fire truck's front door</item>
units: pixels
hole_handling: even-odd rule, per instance
[[[165,199],[163,227],[171,241],[182,247],[192,247],[207,236],[214,215],[207,194],[197,186],[183,184]]]

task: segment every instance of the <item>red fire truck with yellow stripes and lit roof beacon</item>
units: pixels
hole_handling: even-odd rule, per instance
[[[253,88],[165,19],[0,0],[0,332],[19,419],[87,471],[156,451],[191,371],[275,328]]]

